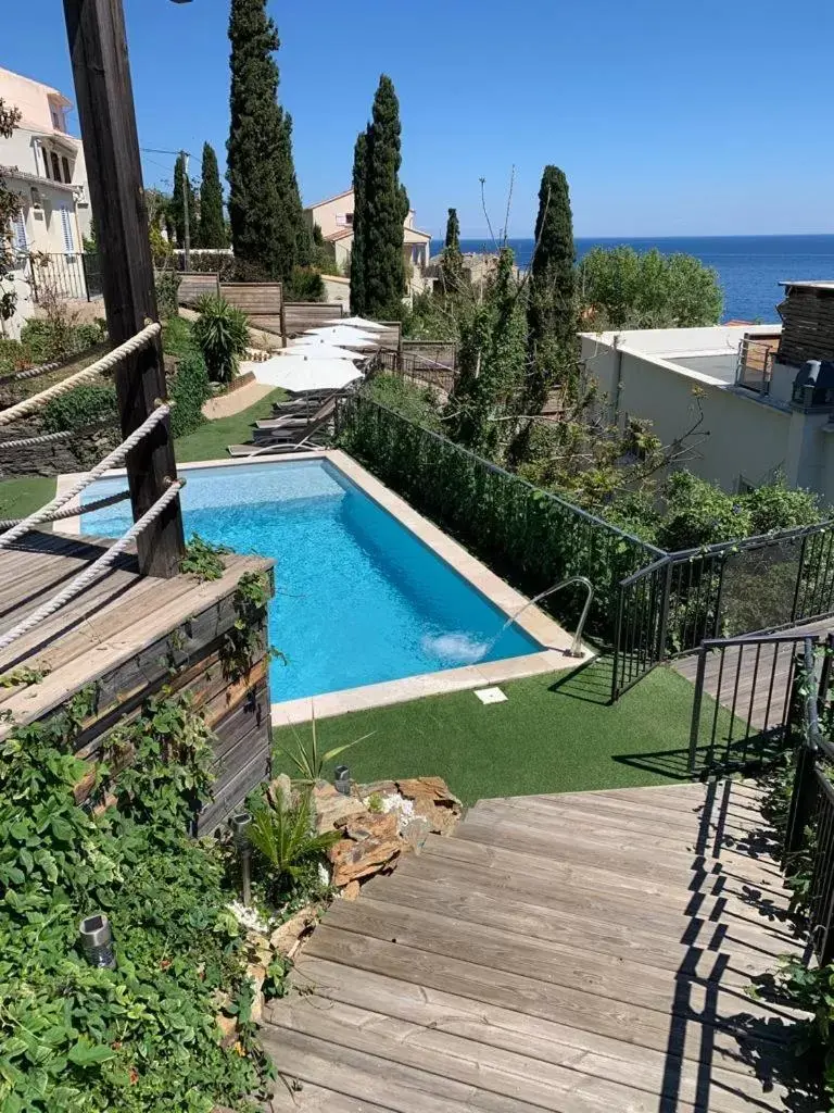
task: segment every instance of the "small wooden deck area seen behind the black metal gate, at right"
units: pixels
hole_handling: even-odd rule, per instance
[[[782,633],[785,637],[805,633],[825,636],[830,630],[834,630],[834,619],[831,618],[792,627]],[[723,654],[722,666],[721,654],[713,652],[707,657],[704,670],[704,691],[741,719],[749,719],[757,730],[781,726],[788,697],[793,654],[794,647],[790,643],[763,644],[761,650],[755,643],[731,646]],[[678,658],[672,662],[672,668],[694,683],[698,654]]]

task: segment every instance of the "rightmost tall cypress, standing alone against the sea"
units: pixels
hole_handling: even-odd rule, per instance
[[[576,345],[575,258],[567,178],[558,167],[546,166],[538,190],[530,275],[528,321],[534,352],[557,345],[567,355]]]

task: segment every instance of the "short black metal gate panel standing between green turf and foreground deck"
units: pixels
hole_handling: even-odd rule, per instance
[[[698,649],[691,776],[762,767],[792,746],[797,654],[816,636],[718,638]]]

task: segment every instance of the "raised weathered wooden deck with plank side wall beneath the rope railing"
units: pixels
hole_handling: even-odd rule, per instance
[[[0,550],[0,633],[66,587],[109,546],[106,539],[33,532]],[[201,814],[211,829],[269,770],[269,684],[261,646],[238,682],[224,674],[221,647],[235,621],[234,593],[244,572],[271,561],[225,558],[218,580],[139,575],[136,556],[113,568],[36,630],[0,651],[0,676],[42,672],[34,683],[0,686],[0,739],[41,719],[76,692],[96,686],[97,709],[77,740],[93,760],[107,732],[163,684],[189,690],[216,735],[215,800]]]

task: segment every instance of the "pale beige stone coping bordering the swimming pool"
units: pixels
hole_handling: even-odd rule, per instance
[[[529,600],[496,575],[459,542],[444,533],[437,525],[419,514],[405,499],[371,475],[361,464],[340,449],[322,449],[315,452],[258,454],[256,459],[201,460],[178,464],[179,472],[200,467],[236,467],[247,464],[298,463],[304,460],[329,460],[344,475],[363,491],[373,502],[386,510],[400,525],[409,530],[419,541],[454,569],[494,607],[507,618],[529,603]],[[58,494],[67,491],[80,473],[59,475]],[[107,472],[102,479],[126,475],[123,467]],[[186,476],[187,477],[187,476]],[[75,500],[79,505],[80,500]],[[80,534],[81,520],[78,515],[60,523],[61,532]],[[299,699],[281,700],[271,705],[274,727],[285,727],[316,719],[360,711],[373,707],[403,703],[424,696],[439,696],[447,692],[483,688],[523,677],[542,676],[566,669],[575,669],[594,656],[592,649],[583,646],[582,657],[570,657],[573,636],[567,633],[554,619],[535,604],[515,618],[515,622],[543,648],[537,652],[509,657],[499,661],[485,661],[457,669],[424,672],[400,680],[386,680],[358,688],[345,688],[321,696],[306,696]]]

